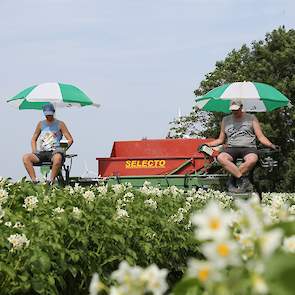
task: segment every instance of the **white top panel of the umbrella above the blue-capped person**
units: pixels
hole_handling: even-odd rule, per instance
[[[43,83],[35,87],[26,97],[30,102],[62,101],[62,94],[57,83]]]

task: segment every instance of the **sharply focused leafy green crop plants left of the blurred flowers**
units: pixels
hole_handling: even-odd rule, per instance
[[[22,181],[4,189],[9,197],[0,218],[1,294],[85,294],[94,272],[109,284],[123,260],[143,267],[156,263],[169,269],[174,283],[188,257],[200,257],[187,227],[190,212],[183,222],[169,221],[185,196],[158,198],[158,208],[152,209],[144,201],[153,196],[132,188],[102,193],[98,187],[62,189]],[[94,193],[93,201],[86,200],[86,191]],[[122,205],[119,200],[128,192],[132,202]],[[38,199],[32,211],[24,207],[28,196]],[[129,217],[118,218],[120,204]],[[25,234],[27,247],[13,249],[8,237],[16,233]]]

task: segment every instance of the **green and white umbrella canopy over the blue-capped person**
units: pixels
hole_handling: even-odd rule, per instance
[[[43,83],[24,89],[13,98],[7,100],[19,110],[41,110],[44,104],[51,102],[56,107],[96,106],[79,88],[70,84]]]

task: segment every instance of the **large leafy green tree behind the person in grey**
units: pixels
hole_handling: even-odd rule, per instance
[[[214,87],[235,81],[270,84],[284,93],[295,105],[295,30],[279,27],[267,33],[264,40],[232,50],[223,61],[216,62],[214,71],[205,76],[194,93],[196,96],[203,95]],[[216,137],[223,116],[222,113],[204,115],[202,111],[193,110],[181,120],[171,123],[171,133],[177,134],[177,137]],[[272,173],[270,180],[275,183],[276,190],[294,191],[295,108],[258,113],[257,117],[265,134],[282,148],[279,157],[280,168]]]

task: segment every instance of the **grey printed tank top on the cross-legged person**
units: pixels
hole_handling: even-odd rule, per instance
[[[253,130],[254,118],[254,115],[247,113],[241,120],[236,120],[233,115],[223,118],[229,147],[256,147],[256,136]]]

